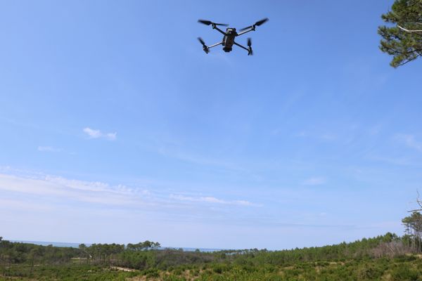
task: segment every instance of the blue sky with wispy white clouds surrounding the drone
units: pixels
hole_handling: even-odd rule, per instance
[[[286,249],[402,234],[422,65],[378,50],[391,4],[2,1],[0,235]],[[266,17],[252,57],[196,39],[221,39],[198,18]]]

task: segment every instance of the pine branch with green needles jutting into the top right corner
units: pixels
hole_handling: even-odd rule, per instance
[[[422,0],[395,0],[391,11],[382,15],[390,26],[378,27],[381,51],[392,55],[390,65],[398,67],[422,55]],[[401,29],[402,27],[405,30]]]

